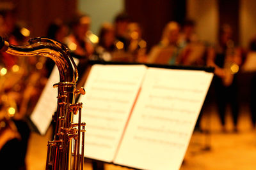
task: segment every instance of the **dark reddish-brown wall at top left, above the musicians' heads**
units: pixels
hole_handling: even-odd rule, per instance
[[[76,0],[1,0],[0,8],[6,2],[14,4],[17,20],[28,25],[31,37],[46,36],[49,24],[57,18],[70,20],[76,11]]]

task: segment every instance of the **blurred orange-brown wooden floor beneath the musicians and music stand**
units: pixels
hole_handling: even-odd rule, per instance
[[[250,122],[248,104],[243,104],[239,116],[239,132],[232,131],[232,120],[227,114],[227,131],[221,131],[221,125],[214,104],[208,104],[202,116],[201,126],[204,132],[194,132],[188,151],[180,169],[256,169],[256,130]],[[28,155],[28,170],[45,169],[47,141],[51,129],[45,136],[31,134]],[[92,169],[86,161],[85,169]],[[104,165],[106,170],[125,170],[128,168]]]

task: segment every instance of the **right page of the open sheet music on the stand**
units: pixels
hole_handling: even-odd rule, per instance
[[[212,76],[149,68],[114,163],[179,169]]]

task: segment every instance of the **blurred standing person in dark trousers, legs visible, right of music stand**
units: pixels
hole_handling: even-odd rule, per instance
[[[219,44],[215,48],[209,48],[207,54],[207,66],[214,70],[214,87],[216,90],[218,112],[220,114],[223,132],[225,129],[225,116],[227,103],[231,104],[234,123],[234,132],[237,132],[237,118],[239,103],[237,98],[237,76],[241,64],[241,49],[234,45],[232,29],[229,25],[223,25],[220,32]]]

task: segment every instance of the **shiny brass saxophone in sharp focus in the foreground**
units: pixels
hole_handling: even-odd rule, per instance
[[[78,73],[68,48],[48,38],[29,39],[27,46],[14,46],[0,37],[0,51],[18,56],[38,55],[54,60],[60,72],[60,83],[54,85],[58,87],[58,107],[52,116],[56,121],[56,131],[54,139],[48,141],[45,169],[83,169],[85,123],[81,122],[82,103],[75,103],[75,99],[77,94],[85,92],[83,88],[76,89]],[[77,113],[78,123],[74,123],[74,115]]]

